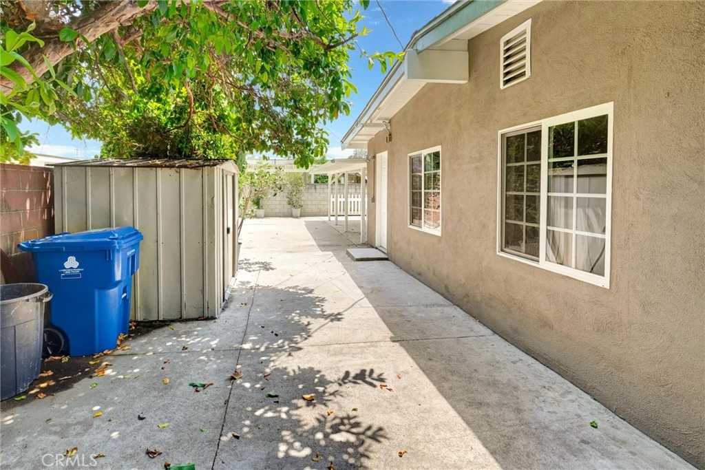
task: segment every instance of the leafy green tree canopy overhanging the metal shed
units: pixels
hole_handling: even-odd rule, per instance
[[[350,112],[349,54],[369,0],[0,0],[0,159],[61,123],[113,157],[325,154]]]

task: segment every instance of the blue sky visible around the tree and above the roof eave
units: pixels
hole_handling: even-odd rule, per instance
[[[389,22],[396,30],[401,43],[406,46],[411,35],[426,23],[438,16],[441,11],[453,4],[454,0],[381,0],[379,5],[384,8],[384,12]],[[375,0],[370,1],[367,11],[364,11],[364,20],[359,23],[367,26],[369,32],[367,36],[360,37],[358,44],[367,51],[400,51],[394,34],[387,24],[379,5]],[[350,116],[341,116],[332,123],[328,123],[325,128],[329,132],[331,141],[328,157],[341,158],[352,154],[352,150],[341,151],[341,139],[345,132],[355,122],[355,118],[360,114],[364,105],[377,89],[384,78],[379,71],[379,66],[372,70],[367,68],[367,59],[360,58],[360,53],[353,51],[350,54],[350,66],[353,68],[353,83],[357,87],[357,95],[350,97],[353,101],[353,110]],[[95,140],[71,139],[71,135],[64,130],[61,125],[49,126],[42,121],[24,121],[20,126],[23,130],[31,130],[39,134],[39,147],[32,147],[30,151],[40,154],[50,154],[58,156],[76,156],[78,158],[91,158],[100,152],[100,142]]]

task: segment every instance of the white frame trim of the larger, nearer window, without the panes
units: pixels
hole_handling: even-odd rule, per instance
[[[566,266],[561,266],[560,264],[551,263],[551,261],[546,261],[546,208],[548,206],[548,197],[546,197],[548,190],[548,128],[553,125],[563,124],[570,121],[577,121],[581,119],[591,118],[594,116],[601,116],[606,114],[608,116],[608,128],[607,128],[607,191],[606,191],[606,207],[607,214],[605,217],[605,274],[604,276],[598,276],[592,273],[586,273],[575,268],[568,268]],[[541,126],[541,236],[539,238],[539,261],[532,261],[531,259],[523,258],[522,256],[517,256],[509,254],[502,251],[502,206],[503,206],[503,155],[502,155],[502,136],[508,134],[509,132],[515,132],[517,130],[524,130],[535,128]],[[597,106],[591,106],[590,108],[580,109],[579,111],[571,111],[570,113],[561,114],[560,116],[553,116],[551,118],[546,118],[544,120],[536,120],[531,123],[526,123],[522,125],[515,125],[511,128],[506,128],[500,130],[497,133],[497,245],[496,250],[499,256],[504,258],[513,259],[515,261],[520,261],[524,264],[529,264],[531,266],[538,266],[539,268],[546,269],[547,271],[552,271],[554,273],[563,274],[570,278],[577,280],[582,280],[586,283],[598,285],[600,287],[605,287],[609,289],[610,287],[610,276],[611,276],[611,239],[612,239],[612,154],[613,154],[613,129],[614,129],[614,102],[611,101],[606,104],[599,104]],[[442,197],[441,197],[442,200]],[[441,216],[441,222],[443,217]]]

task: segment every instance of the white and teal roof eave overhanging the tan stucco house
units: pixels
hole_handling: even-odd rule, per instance
[[[345,132],[343,149],[367,147],[427,83],[465,83],[468,79],[467,40],[517,15],[541,0],[459,0],[415,32],[381,85]]]

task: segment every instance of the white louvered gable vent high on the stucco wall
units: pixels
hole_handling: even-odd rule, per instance
[[[501,89],[531,76],[531,20],[508,32],[500,42]]]

